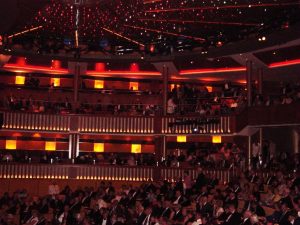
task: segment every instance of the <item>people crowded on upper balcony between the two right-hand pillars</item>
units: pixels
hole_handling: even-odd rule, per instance
[[[224,83],[219,91],[206,86],[175,86],[169,94],[168,114],[196,114],[199,116],[228,115],[245,104],[242,87]]]

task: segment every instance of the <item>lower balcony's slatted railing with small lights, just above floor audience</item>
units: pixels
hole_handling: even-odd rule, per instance
[[[0,164],[0,179],[77,179],[110,181],[177,181],[188,171],[193,179],[197,168],[137,167],[113,165],[48,165],[48,164]],[[229,182],[233,170],[203,170],[208,177]]]

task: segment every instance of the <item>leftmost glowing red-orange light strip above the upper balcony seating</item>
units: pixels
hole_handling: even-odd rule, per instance
[[[68,74],[68,70],[66,69],[52,69],[51,67],[43,67],[43,66],[32,66],[32,65],[25,65],[20,66],[17,64],[5,64],[3,66],[4,69],[11,70],[11,71],[24,71],[24,72],[44,72],[44,73],[55,73],[55,74]]]

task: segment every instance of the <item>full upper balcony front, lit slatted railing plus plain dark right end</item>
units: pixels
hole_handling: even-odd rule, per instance
[[[3,130],[108,134],[236,134],[246,126],[297,125],[300,104],[250,107],[229,116],[99,116],[3,111]],[[198,129],[200,128],[200,129]]]

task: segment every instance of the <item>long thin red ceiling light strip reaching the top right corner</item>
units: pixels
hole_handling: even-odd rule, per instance
[[[177,11],[192,11],[192,10],[219,10],[219,9],[241,9],[241,8],[259,8],[259,7],[277,7],[277,6],[293,6],[300,5],[299,2],[287,3],[265,3],[265,4],[243,4],[243,5],[224,5],[224,6],[203,6],[203,7],[189,7],[189,8],[172,8],[172,9],[153,9],[147,10],[147,13],[160,12],[177,12]]]

